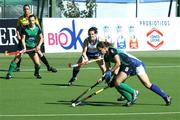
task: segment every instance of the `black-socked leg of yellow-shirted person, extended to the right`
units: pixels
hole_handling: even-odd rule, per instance
[[[39,55],[39,58],[41,59],[41,61],[46,65],[48,71],[57,72],[56,68],[49,65],[48,60],[46,59],[46,57],[40,50],[38,51],[38,55]]]

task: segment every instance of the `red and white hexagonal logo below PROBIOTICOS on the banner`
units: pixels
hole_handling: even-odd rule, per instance
[[[153,49],[159,49],[163,44],[163,33],[156,28],[152,28],[146,36],[148,37],[147,44]]]

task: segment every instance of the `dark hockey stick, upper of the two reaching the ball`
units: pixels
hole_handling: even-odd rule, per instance
[[[104,79],[104,75],[98,79],[98,81],[102,81],[102,79]],[[94,85],[92,85],[90,88],[88,88],[87,90],[85,90],[82,94],[80,94],[75,100],[72,100],[72,103],[77,102],[83,95],[85,95],[88,91],[92,90],[95,86],[97,86],[100,82],[96,82]]]

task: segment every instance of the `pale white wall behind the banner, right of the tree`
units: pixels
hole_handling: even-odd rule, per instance
[[[167,17],[169,2],[139,3],[138,17]],[[171,17],[176,16],[176,2],[173,2]],[[98,3],[97,18],[136,17],[136,3],[114,4]]]

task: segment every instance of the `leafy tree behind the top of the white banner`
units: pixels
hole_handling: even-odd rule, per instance
[[[96,0],[86,0],[86,9],[80,10],[75,0],[60,0],[58,7],[66,18],[92,18],[97,4]]]

